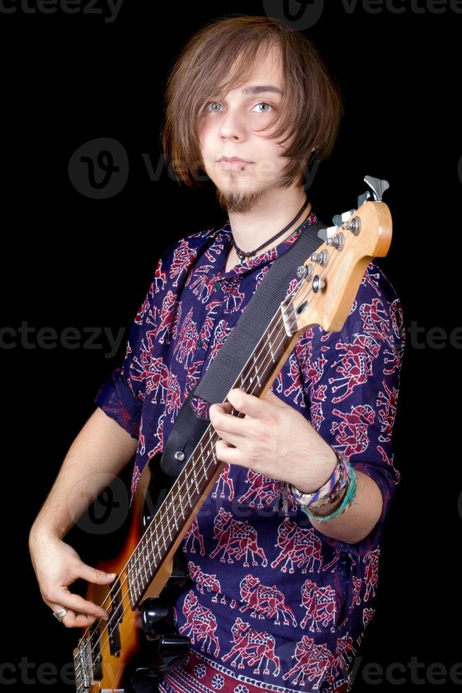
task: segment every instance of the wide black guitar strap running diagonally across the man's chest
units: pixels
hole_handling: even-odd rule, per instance
[[[194,397],[200,397],[208,404],[225,401],[227,393],[284,300],[288,278],[295,276],[297,267],[326,240],[326,231],[319,233],[323,229],[326,229],[325,223],[311,223],[304,228],[295,243],[271,264],[208,371],[196,388],[189,392],[179,410],[160,460],[160,467],[165,474],[170,477],[178,476],[210,424],[210,419],[199,417],[194,412],[191,401]]]

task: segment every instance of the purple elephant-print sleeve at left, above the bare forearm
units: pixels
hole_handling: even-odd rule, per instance
[[[139,437],[149,354],[157,332],[159,305],[166,282],[163,267],[169,251],[170,248],[160,257],[153,280],[131,324],[122,366],[114,368],[93,400],[136,439]]]

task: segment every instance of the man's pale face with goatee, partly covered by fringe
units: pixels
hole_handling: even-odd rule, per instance
[[[266,89],[251,93],[252,86]],[[242,93],[246,88],[247,93]],[[227,211],[249,211],[279,185],[288,159],[282,156],[283,147],[271,137],[273,127],[263,133],[258,131],[276,115],[282,100],[278,90],[283,88],[279,47],[273,46],[266,53],[261,47],[249,80],[228,91],[219,102],[211,98],[199,118],[204,168],[215,183],[218,202]],[[245,161],[219,161],[223,156]]]

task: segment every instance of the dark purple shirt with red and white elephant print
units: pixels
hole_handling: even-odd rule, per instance
[[[122,366],[95,397],[138,440],[131,500],[144,465],[162,452],[183,402],[273,260],[314,221],[312,212],[290,238],[229,272],[229,219],[160,256]],[[161,692],[350,690],[401,476],[392,431],[404,345],[401,302],[377,260],[369,262],[342,330],[316,325],[300,334],[271,389],[374,479],[381,517],[360,542],[331,539],[295,501],[285,516],[277,502],[282,482],[226,464],[181,544],[193,587],[177,598],[174,619],[191,648],[162,675]],[[194,408],[207,416],[206,402],[195,398]]]

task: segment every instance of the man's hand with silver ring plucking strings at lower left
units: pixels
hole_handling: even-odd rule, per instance
[[[40,532],[31,532],[29,551],[45,604],[53,611],[67,610],[63,623],[67,628],[87,627],[97,618],[107,619],[107,612],[93,602],[69,591],[69,585],[83,578],[97,585],[109,585],[115,573],[107,573],[86,565],[66,542]]]

